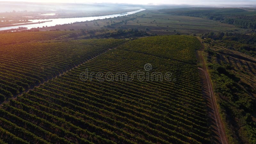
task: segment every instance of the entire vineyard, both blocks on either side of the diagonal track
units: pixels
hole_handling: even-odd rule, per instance
[[[4,103],[0,108],[0,140],[209,143],[196,66],[195,49],[199,47],[200,42],[193,36],[154,36],[125,43],[94,39],[1,47],[0,93],[8,97],[87,61]],[[94,56],[97,57],[91,59]],[[122,81],[118,77],[99,81],[95,75],[91,80],[80,79],[86,70],[102,74],[125,72],[131,78],[133,72],[145,72],[145,64],[152,65],[148,73],[169,72],[172,80]]]

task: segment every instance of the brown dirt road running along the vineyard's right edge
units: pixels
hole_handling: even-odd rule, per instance
[[[228,144],[224,125],[221,121],[220,113],[217,107],[216,97],[213,93],[212,82],[207,71],[206,63],[204,61],[203,51],[204,44],[202,44],[202,49],[198,51],[198,59],[202,67],[198,69],[200,70],[203,95],[207,101],[207,113],[211,125],[212,143]]]

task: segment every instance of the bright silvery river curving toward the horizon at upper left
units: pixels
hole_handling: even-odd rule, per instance
[[[91,20],[102,20],[102,19],[108,19],[108,18],[114,18],[118,16],[126,16],[129,14],[134,14],[137,12],[144,11],[146,9],[140,9],[137,11],[132,11],[132,12],[125,12],[125,13],[120,13],[120,14],[112,14],[112,15],[105,15],[105,16],[97,16],[97,17],[83,17],[83,18],[60,18],[60,19],[44,19],[44,20],[29,20],[32,22],[38,22],[38,21],[49,21],[49,22],[44,22],[44,23],[37,23],[37,24],[26,24],[26,25],[19,25],[19,26],[10,26],[10,27],[4,27],[0,28],[0,30],[7,30],[7,29],[12,29],[12,28],[19,28],[19,27],[26,27],[28,29],[31,28],[42,28],[43,26],[55,26],[55,25],[62,25],[62,24],[68,24],[68,23],[74,23],[74,22],[81,22],[81,21],[91,21]],[[51,21],[52,20],[52,21]]]

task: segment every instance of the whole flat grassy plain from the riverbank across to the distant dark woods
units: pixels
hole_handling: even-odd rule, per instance
[[[133,19],[132,19],[133,18]],[[132,20],[130,20],[132,19]],[[127,23],[115,24],[122,20],[128,20]],[[97,22],[97,23],[95,23]],[[99,25],[98,25],[99,24]],[[92,22],[82,22],[72,25],[57,26],[54,28],[66,29],[102,29],[103,26],[115,24],[108,29],[113,30],[116,28],[137,28],[145,30],[149,33],[156,33],[158,35],[173,35],[176,33],[182,35],[204,34],[206,32],[241,32],[244,33],[247,30],[243,28],[237,28],[233,25],[220,23],[218,21],[207,20],[203,18],[188,17],[188,16],[175,16],[164,14],[156,11],[142,11],[133,15],[112,18],[107,20],[96,20]],[[148,28],[148,30],[146,30]],[[49,30],[51,28],[43,28],[42,30]]]

